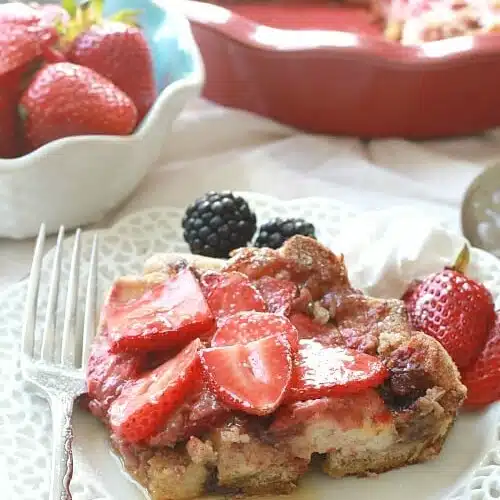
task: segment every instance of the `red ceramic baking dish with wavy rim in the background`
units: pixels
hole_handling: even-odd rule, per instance
[[[362,138],[460,136],[500,125],[499,34],[408,47],[384,40],[362,8],[182,8],[205,62],[204,95],[225,106]]]

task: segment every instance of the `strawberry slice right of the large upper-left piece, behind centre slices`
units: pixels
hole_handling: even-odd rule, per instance
[[[242,273],[209,271],[202,275],[201,286],[208,305],[217,318],[240,311],[265,311],[264,299]]]

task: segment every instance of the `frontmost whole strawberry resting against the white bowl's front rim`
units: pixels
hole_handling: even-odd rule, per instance
[[[137,123],[131,99],[90,68],[49,64],[34,76],[20,101],[28,147],[73,135],[128,135]]]

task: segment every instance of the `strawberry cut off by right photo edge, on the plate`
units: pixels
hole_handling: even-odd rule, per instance
[[[486,345],[474,363],[462,373],[467,387],[465,405],[484,406],[500,399],[500,315],[490,331]]]

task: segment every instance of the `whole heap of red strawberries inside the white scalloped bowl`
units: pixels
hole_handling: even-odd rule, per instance
[[[68,136],[134,132],[156,99],[136,14],[103,19],[100,0],[0,5],[0,158]]]

